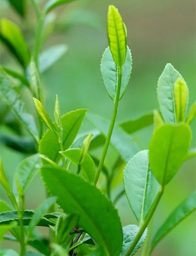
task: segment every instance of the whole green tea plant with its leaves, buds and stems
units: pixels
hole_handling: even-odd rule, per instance
[[[16,25],[5,19],[1,22],[1,40],[25,72],[22,75],[1,67],[0,93],[33,141],[25,139],[24,131],[20,137],[3,140],[7,146],[26,151],[30,156],[16,168],[12,186],[0,162],[0,181],[12,203],[10,207],[0,201],[0,240],[19,242],[21,256],[134,255],[146,237],[150,236],[148,225],[167,189],[166,185],[181,165],[195,156],[195,149],[190,149],[189,124],[195,116],[196,103],[187,114],[187,84],[180,73],[167,64],[157,85],[160,110],[137,120],[115,124],[119,101],[131,74],[132,56],[126,45],[127,31],[122,17],[114,6],[109,6],[109,46],[102,56],[101,73],[106,91],[114,102],[112,118],[109,122],[87,114],[97,130],[78,135],[87,109],[61,115],[56,96],[53,122],[44,108],[44,91],[40,81],[44,69],[39,54],[40,36],[46,14],[63,2],[68,1],[50,0],[41,12],[36,2],[32,1],[39,20],[33,52],[28,50],[22,32]],[[47,56],[51,63],[54,62],[52,58],[57,57],[53,51]],[[20,80],[20,84],[31,92],[38,122],[26,112],[21,88],[13,78]],[[154,131],[149,150],[139,151],[130,134],[152,123]],[[45,132],[43,124],[47,127]],[[7,125],[17,128],[10,123]],[[114,166],[108,169],[105,158],[110,144],[118,152],[118,157]],[[92,152],[101,146],[103,151],[99,158]],[[112,183],[122,168],[124,189],[112,203]],[[37,209],[27,210],[25,191],[38,173],[48,198]],[[104,184],[103,179],[99,182],[101,173],[105,176]],[[139,226],[121,226],[115,203],[124,192]],[[145,242],[143,255],[151,255],[158,242],[196,208],[195,196],[194,191],[157,227],[154,237]],[[50,237],[45,239],[36,229],[37,226],[48,227]],[[29,246],[37,252],[29,251]],[[9,248],[1,249],[1,255],[14,256],[18,253]]]

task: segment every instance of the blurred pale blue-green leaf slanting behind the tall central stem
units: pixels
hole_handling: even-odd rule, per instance
[[[104,136],[107,136],[109,121],[99,116],[88,113],[87,118]],[[115,126],[112,132],[110,143],[118,151],[123,161],[127,163],[139,150],[137,145],[132,141],[130,135],[123,131],[122,128]]]

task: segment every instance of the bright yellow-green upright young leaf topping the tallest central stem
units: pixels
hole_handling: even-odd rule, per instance
[[[126,32],[122,17],[113,5],[107,13],[107,36],[114,62],[122,68],[126,57]]]

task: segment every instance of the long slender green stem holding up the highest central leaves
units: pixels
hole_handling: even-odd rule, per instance
[[[118,85],[117,85],[116,98],[115,98],[115,102],[114,102],[114,110],[113,110],[109,130],[108,130],[108,133],[107,133],[106,142],[105,142],[104,149],[103,149],[103,152],[102,152],[102,156],[101,156],[99,166],[97,168],[97,172],[95,174],[95,178],[94,178],[94,181],[93,181],[95,185],[97,184],[97,181],[99,179],[99,175],[101,173],[101,170],[102,170],[102,167],[103,167],[103,164],[104,164],[104,160],[106,158],[107,149],[109,147],[110,139],[111,139],[111,136],[112,136],[112,131],[113,131],[115,120],[116,120],[119,98],[120,98],[120,91],[121,91],[121,80],[122,80],[122,68],[119,68],[119,70],[118,70]]]

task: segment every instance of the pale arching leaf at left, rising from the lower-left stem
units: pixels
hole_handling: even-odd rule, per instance
[[[31,181],[38,173],[41,167],[41,159],[39,154],[31,155],[25,158],[19,166],[16,168],[14,176],[18,177],[20,186],[23,193],[26,191],[27,187],[30,185]],[[13,180],[13,192],[17,195],[17,184],[16,180]]]

